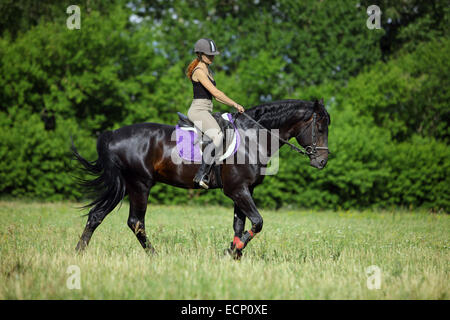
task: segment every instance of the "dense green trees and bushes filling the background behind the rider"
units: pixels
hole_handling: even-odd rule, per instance
[[[79,199],[70,137],[95,159],[99,133],[186,112],[184,70],[200,37],[222,54],[218,87],[245,107],[324,97],[333,152],[322,171],[287,148],[255,191],[267,207],[450,210],[449,9],[439,1],[5,1],[0,24],[0,193]],[[20,13],[20,14],[19,14]],[[8,15],[7,15],[8,16]],[[9,19],[9,18],[8,18]],[[215,102],[217,111],[230,108]],[[220,190],[156,185],[153,202],[231,203]]]

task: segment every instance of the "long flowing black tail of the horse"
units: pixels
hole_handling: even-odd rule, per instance
[[[125,197],[126,188],[119,167],[120,162],[108,147],[111,137],[111,131],[106,131],[98,137],[98,159],[95,161],[84,159],[72,141],[71,149],[74,158],[82,164],[83,171],[96,176],[92,180],[79,179],[86,193],[95,196],[95,200],[83,207],[92,207],[88,213],[89,217],[92,215],[105,217]]]

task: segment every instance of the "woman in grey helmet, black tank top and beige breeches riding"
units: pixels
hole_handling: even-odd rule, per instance
[[[217,121],[212,116],[212,97],[217,101],[235,107],[240,113],[244,108],[228,98],[222,91],[216,88],[216,82],[209,72],[209,65],[214,61],[217,51],[213,40],[203,38],[195,43],[194,51],[197,58],[188,66],[186,75],[192,81],[194,88],[194,100],[188,110],[188,118],[194,122],[204,134],[212,140],[203,151],[202,165],[194,177],[194,182],[202,188],[208,189],[207,175],[215,160],[215,150],[220,150],[223,141],[223,133]],[[213,150],[211,148],[214,147]]]

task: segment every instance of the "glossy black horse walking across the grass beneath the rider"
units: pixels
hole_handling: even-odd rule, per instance
[[[295,137],[305,148],[313,167],[322,169],[328,160],[328,126],[330,116],[323,100],[282,100],[266,103],[248,109],[245,114],[233,114],[239,130],[277,130],[277,148]],[[117,204],[128,195],[130,212],[128,226],[135,233],[142,247],[155,253],[145,233],[145,212],[150,189],[156,182],[163,182],[181,188],[199,188],[193,177],[199,164],[176,164],[171,155],[176,147],[173,139],[175,126],[158,123],[141,123],[102,133],[97,140],[98,159],[87,161],[72,144],[75,158],[83,169],[96,176],[85,180],[83,185],[94,189],[96,199],[91,207],[84,232],[76,247],[82,251],[88,245],[95,229]],[[279,142],[279,143],[278,143]],[[259,144],[259,143],[258,143]],[[270,144],[270,143],[269,143]],[[268,157],[273,155],[273,147]],[[277,151],[277,150],[275,150]],[[242,143],[236,156],[248,155],[249,148]],[[219,166],[218,179],[211,174],[210,188],[222,187],[226,196],[234,201],[234,240],[228,250],[239,258],[248,242],[261,231],[263,219],[255,206],[252,195],[254,188],[264,179],[263,170],[267,163],[229,163]],[[216,181],[217,180],[217,181]],[[219,181],[220,180],[220,183]],[[250,219],[251,229],[244,232],[245,218]]]

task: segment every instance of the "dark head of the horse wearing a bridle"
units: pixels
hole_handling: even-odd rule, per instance
[[[312,110],[305,113],[304,121],[295,137],[308,153],[311,166],[323,169],[328,161],[328,126],[330,115],[323,99],[315,100]]]

